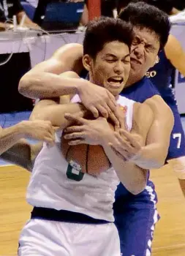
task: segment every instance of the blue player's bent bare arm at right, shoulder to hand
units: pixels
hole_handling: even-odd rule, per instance
[[[153,119],[150,121],[151,126],[148,127],[146,136],[146,128],[143,127],[143,124],[146,123],[148,113],[151,113],[150,116],[153,116]],[[120,157],[131,159],[132,162],[144,169],[162,167],[167,156],[170,133],[173,129],[173,113],[164,100],[156,95],[142,104],[142,108],[135,115],[135,121],[136,125],[132,132],[140,135],[141,138],[146,136],[146,146],[138,146],[138,138],[130,136],[129,132],[121,129],[120,135],[117,135],[119,141],[112,145],[113,149]],[[127,147],[125,138],[133,140],[137,148],[134,150]]]

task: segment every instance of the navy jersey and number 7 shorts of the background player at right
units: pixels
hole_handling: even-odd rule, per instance
[[[159,53],[159,63],[146,73],[146,76],[154,83],[162,98],[173,111],[175,118],[167,159],[185,156],[184,130],[172,86],[174,75],[175,68],[165,56],[165,51]]]

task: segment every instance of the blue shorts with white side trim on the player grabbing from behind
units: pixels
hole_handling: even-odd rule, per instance
[[[132,195],[122,184],[118,185],[113,209],[122,255],[151,255],[151,242],[159,220],[156,203],[156,192],[151,181],[139,195]]]

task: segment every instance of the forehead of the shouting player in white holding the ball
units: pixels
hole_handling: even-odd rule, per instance
[[[124,42],[118,42],[118,41],[107,42],[104,45],[101,53],[103,55],[113,55],[113,56],[122,58],[129,54],[129,47]]]

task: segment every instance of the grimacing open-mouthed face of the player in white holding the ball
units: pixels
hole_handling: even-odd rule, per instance
[[[129,78],[129,47],[123,42],[113,41],[105,44],[97,53],[96,59],[89,61],[91,81],[105,87],[114,96],[124,88]]]

